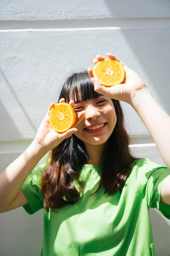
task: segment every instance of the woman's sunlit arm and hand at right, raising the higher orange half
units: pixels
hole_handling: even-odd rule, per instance
[[[108,57],[120,61],[112,53],[108,53]],[[97,55],[94,64],[102,59],[104,57]],[[94,90],[111,99],[127,102],[134,108],[150,132],[164,163],[170,170],[170,116],[153,99],[140,76],[122,61],[120,63],[125,69],[125,80],[122,84],[112,87],[101,85],[99,80],[93,77],[92,69],[88,68],[89,76],[94,83]],[[170,204],[170,176],[165,178],[161,186],[160,201]]]

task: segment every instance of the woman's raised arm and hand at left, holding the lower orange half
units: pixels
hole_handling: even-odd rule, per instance
[[[73,101],[70,104],[74,107]],[[73,128],[64,133],[57,133],[49,124],[49,113],[53,106],[54,103],[50,105],[31,145],[0,174],[0,212],[6,212],[28,203],[20,191],[28,175],[49,150],[77,131],[75,127],[81,121],[84,113],[77,113]]]

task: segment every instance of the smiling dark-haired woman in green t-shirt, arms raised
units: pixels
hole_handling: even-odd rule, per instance
[[[51,128],[52,103],[34,141],[0,174],[1,212],[44,208],[42,256],[155,255],[149,207],[170,219],[170,116],[123,65],[126,79],[113,87],[102,86],[91,69],[70,76],[59,102],[74,107],[74,128]],[[119,101],[139,114],[166,166],[130,154]]]

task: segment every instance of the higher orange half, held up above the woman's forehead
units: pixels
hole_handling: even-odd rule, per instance
[[[110,87],[122,83],[125,78],[125,70],[119,61],[104,59],[94,64],[93,75],[102,85]]]

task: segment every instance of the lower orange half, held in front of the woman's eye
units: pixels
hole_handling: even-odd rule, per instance
[[[67,131],[72,128],[76,122],[74,108],[65,102],[55,104],[55,106],[51,108],[49,122],[51,127],[59,133]]]

